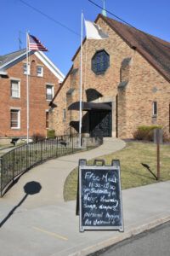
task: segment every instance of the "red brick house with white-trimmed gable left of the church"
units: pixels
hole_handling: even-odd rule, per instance
[[[26,74],[29,74],[29,137],[47,136],[48,104],[59,90],[64,75],[47,55],[26,49],[0,56],[0,143],[3,138],[26,138]]]

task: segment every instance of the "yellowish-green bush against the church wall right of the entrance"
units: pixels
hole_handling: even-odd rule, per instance
[[[154,129],[161,129],[161,125],[141,125],[137,131],[133,132],[133,138],[136,140],[153,141]]]

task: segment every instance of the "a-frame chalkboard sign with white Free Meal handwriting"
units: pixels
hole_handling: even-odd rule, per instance
[[[78,187],[80,232],[124,230],[119,160],[112,160],[111,166],[105,166],[104,160],[94,160],[94,166],[79,160]]]

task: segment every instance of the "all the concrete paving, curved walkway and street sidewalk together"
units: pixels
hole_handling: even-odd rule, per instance
[[[123,233],[79,232],[76,201],[63,201],[63,185],[80,158],[97,158],[124,147],[121,140],[106,139],[88,152],[50,160],[20,177],[0,199],[0,247],[3,256],[78,256],[94,253],[170,220],[170,181],[122,191]],[[26,183],[36,181],[42,189],[24,196]],[[20,204],[19,207],[16,207]],[[14,208],[15,207],[15,208]],[[11,210],[14,209],[14,212]],[[10,212],[10,213],[9,213]]]

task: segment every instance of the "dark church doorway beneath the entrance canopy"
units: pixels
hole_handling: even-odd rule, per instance
[[[90,111],[89,128],[91,136],[98,135],[99,132],[102,132],[103,137],[111,137],[111,111]]]

